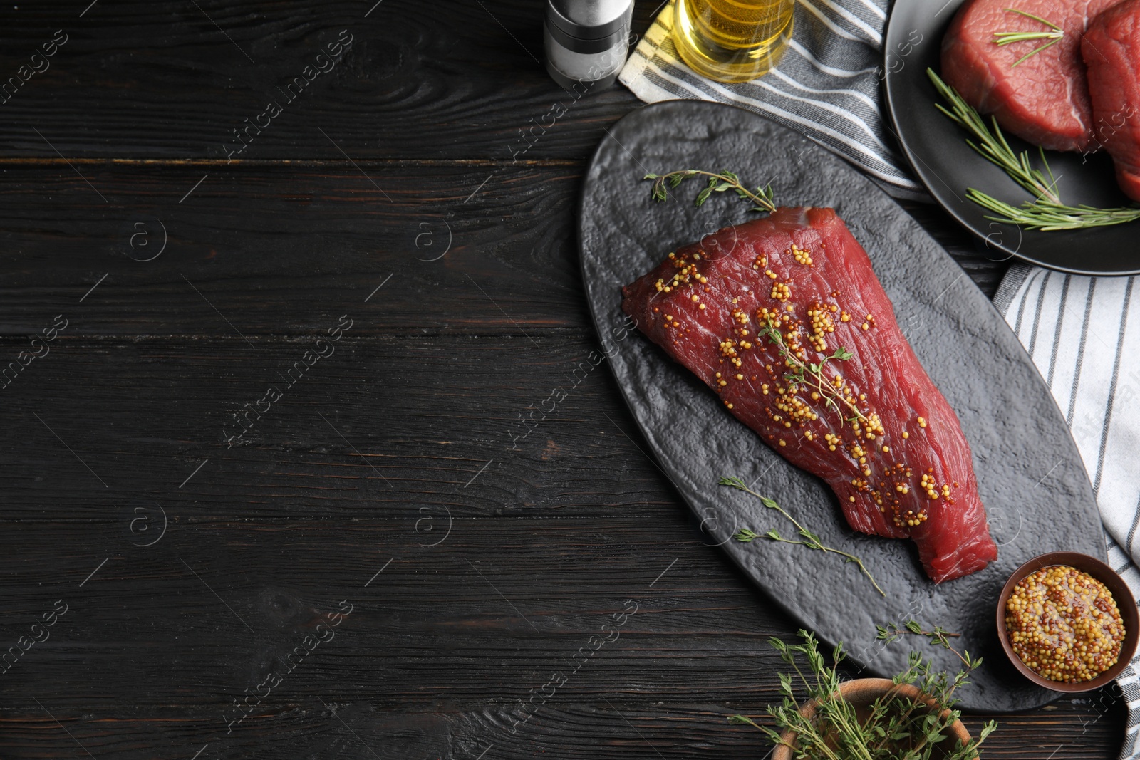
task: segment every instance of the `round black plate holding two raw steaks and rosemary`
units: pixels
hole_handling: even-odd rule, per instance
[[[967,133],[935,108],[939,101],[927,67],[940,70],[942,38],[963,0],[895,0],[887,23],[887,101],[896,137],[914,173],[930,195],[995,256],[1012,254],[1025,261],[1077,275],[1140,272],[1140,221],[1085,230],[1025,231],[986,219],[985,209],[966,199],[976,188],[1013,205],[1032,196],[1005,172],[966,144]],[[1007,134],[1017,150],[1037,148]],[[1116,186],[1113,162],[1104,153],[1081,156],[1047,150],[1058,178],[1061,198],[1069,205],[1126,206],[1131,202]],[[1036,160],[1035,164],[1037,163]],[[1004,254],[1000,252],[1005,252]]]

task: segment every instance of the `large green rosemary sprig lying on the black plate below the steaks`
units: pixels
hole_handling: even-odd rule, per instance
[[[1084,204],[1069,206],[1062,203],[1057,193],[1057,179],[1053,177],[1052,170],[1049,169],[1044,149],[1039,148],[1041,163],[1045,167],[1042,172],[1029,164],[1028,150],[1023,150],[1019,154],[1013,153],[1013,148],[1005,140],[996,119],[991,117],[991,125],[987,125],[977,109],[966,103],[958,90],[943,82],[934,73],[934,70],[928,68],[927,76],[938,90],[938,95],[950,104],[948,109],[942,104],[935,104],[935,107],[977,140],[975,142],[967,139],[967,145],[978,152],[986,161],[1004,170],[1010,179],[1034,196],[1032,202],[1026,201],[1020,206],[1013,206],[980,190],[969,188],[966,191],[966,197],[997,214],[986,216],[986,219],[1044,231],[1108,227],[1140,219],[1140,207],[1135,206],[1097,209]]]

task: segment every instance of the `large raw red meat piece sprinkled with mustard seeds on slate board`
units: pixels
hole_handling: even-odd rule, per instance
[[[645,335],[728,411],[828,482],[852,528],[913,539],[935,582],[996,558],[958,417],[834,210],[725,228],[622,294]]]

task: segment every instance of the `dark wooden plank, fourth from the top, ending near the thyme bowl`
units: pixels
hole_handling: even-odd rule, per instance
[[[67,608],[5,673],[7,704],[34,708],[47,693],[60,708],[115,709],[107,684],[121,683],[137,685],[136,708],[228,705],[270,673],[282,684],[268,706],[314,694],[412,710],[488,695],[513,703],[552,670],[568,676],[562,698],[774,693],[777,656],[765,640],[790,623],[683,521],[668,522],[646,534],[637,517],[463,520],[426,548],[390,520],[185,512],[144,548],[100,525],[66,534],[21,524],[9,540],[22,541],[23,566],[13,573],[15,557],[5,559],[8,645],[56,599]],[[625,606],[635,612],[618,638],[592,654],[591,637],[616,636],[602,626]],[[351,614],[333,626],[339,608]],[[323,620],[328,631],[316,628]],[[327,640],[291,659],[307,634]],[[583,647],[586,664],[572,660]],[[741,669],[757,677],[740,679]]]

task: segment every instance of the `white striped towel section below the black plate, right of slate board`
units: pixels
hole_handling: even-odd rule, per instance
[[[1140,598],[1140,288],[1015,264],[994,305],[1049,384],[1092,480],[1108,558]],[[1121,751],[1140,758],[1140,656],[1117,685],[1129,708]],[[1098,709],[1099,712],[1099,709]]]

